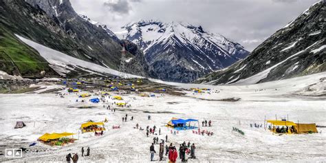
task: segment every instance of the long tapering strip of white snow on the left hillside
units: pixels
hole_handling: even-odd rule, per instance
[[[30,45],[35,50],[45,58],[47,62],[49,62],[51,67],[58,72],[58,74],[65,75],[70,72],[70,70],[78,67],[83,69],[86,72],[91,74],[112,74],[115,76],[120,76],[120,72],[111,69],[109,67],[102,67],[100,65],[96,65],[95,63],[89,63],[87,61],[82,61],[78,58],[74,58],[72,56],[68,56],[56,50],[52,50],[49,47],[45,47],[39,43],[35,43],[28,39],[23,38],[16,34],[16,36],[21,39],[24,43]],[[129,78],[142,78],[141,76],[135,76],[132,74],[127,74]]]

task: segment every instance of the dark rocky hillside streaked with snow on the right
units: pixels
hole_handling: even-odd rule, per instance
[[[315,3],[244,60],[195,83],[252,84],[326,71],[326,4]]]

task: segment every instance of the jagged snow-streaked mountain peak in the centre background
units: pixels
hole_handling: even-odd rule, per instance
[[[144,51],[153,77],[189,82],[245,58],[248,51],[202,26],[139,21],[122,27],[125,39]]]

